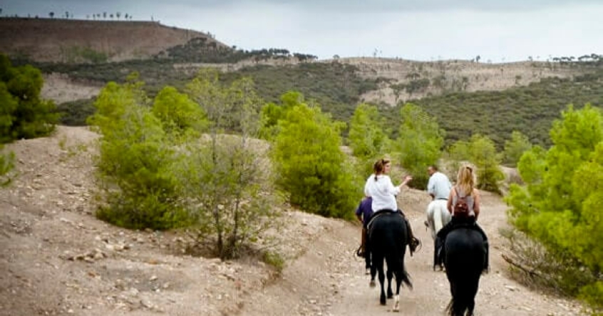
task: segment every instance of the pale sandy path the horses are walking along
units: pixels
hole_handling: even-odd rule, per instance
[[[417,192],[409,193],[411,195]],[[424,201],[426,205],[428,200]],[[490,238],[490,260],[492,270],[480,279],[480,289],[476,297],[476,315],[580,315],[575,302],[557,299],[532,292],[507,276],[507,264],[500,257],[504,251],[504,240],[498,229],[504,227],[505,204],[500,197],[483,193],[483,212],[480,215],[485,232]],[[402,203],[401,205],[404,204]],[[441,315],[450,300],[448,280],[444,272],[434,272],[431,267],[433,242],[424,229],[423,213],[417,206],[407,207],[412,218],[413,230],[423,241],[423,249],[413,258],[406,257],[406,267],[413,280],[413,290],[401,290],[401,312],[403,315]],[[349,287],[341,295],[341,300],[332,308],[331,315],[380,315],[391,310],[388,305],[379,305],[378,286],[368,287],[368,276],[363,275],[360,264],[351,266],[356,274]]]

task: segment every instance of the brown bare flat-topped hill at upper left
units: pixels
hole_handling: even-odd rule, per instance
[[[37,62],[146,59],[191,40],[230,50],[205,33],[151,21],[0,18],[0,52]]]

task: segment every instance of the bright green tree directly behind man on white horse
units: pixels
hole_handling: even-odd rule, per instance
[[[427,187],[428,165],[438,162],[443,146],[444,131],[438,122],[418,106],[407,103],[400,111],[401,123],[396,147],[403,168],[413,175],[408,183],[413,188]]]

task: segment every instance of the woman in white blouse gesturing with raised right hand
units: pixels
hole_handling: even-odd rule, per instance
[[[402,186],[413,180],[413,178],[410,175],[406,175],[406,178],[404,178],[404,181],[400,185],[394,186],[391,182],[391,178],[387,175],[390,169],[391,163],[389,160],[377,160],[373,165],[375,173],[366,179],[364,195],[373,198],[373,212],[376,213],[380,210],[394,212],[397,210],[397,212],[402,215],[404,222],[406,223],[406,231],[408,232],[408,247],[411,249],[411,255],[413,255],[420,242],[413,236],[410,223],[408,223],[406,216],[402,213],[402,210],[398,208],[398,203],[396,203],[396,195],[400,193]]]

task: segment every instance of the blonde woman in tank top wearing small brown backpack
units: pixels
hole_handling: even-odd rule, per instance
[[[481,233],[484,239],[484,248],[485,248],[485,262],[483,270],[488,272],[489,270],[489,260],[488,260],[488,236],[486,236],[485,232],[480,228],[477,223],[478,216],[480,215],[480,192],[475,187],[475,179],[473,177],[473,168],[469,165],[463,165],[458,170],[457,175],[457,183],[450,190],[450,194],[448,195],[448,212],[452,214],[452,220],[450,223],[445,225],[439,232],[436,238],[436,249],[438,249],[438,264],[441,265],[443,262],[443,258],[445,257],[445,248],[444,243],[446,240],[446,235],[450,233],[451,230],[455,229],[459,226],[469,226],[477,230]],[[455,214],[454,205],[457,203],[457,200],[461,197],[465,197],[468,206],[468,213],[466,214]]]

